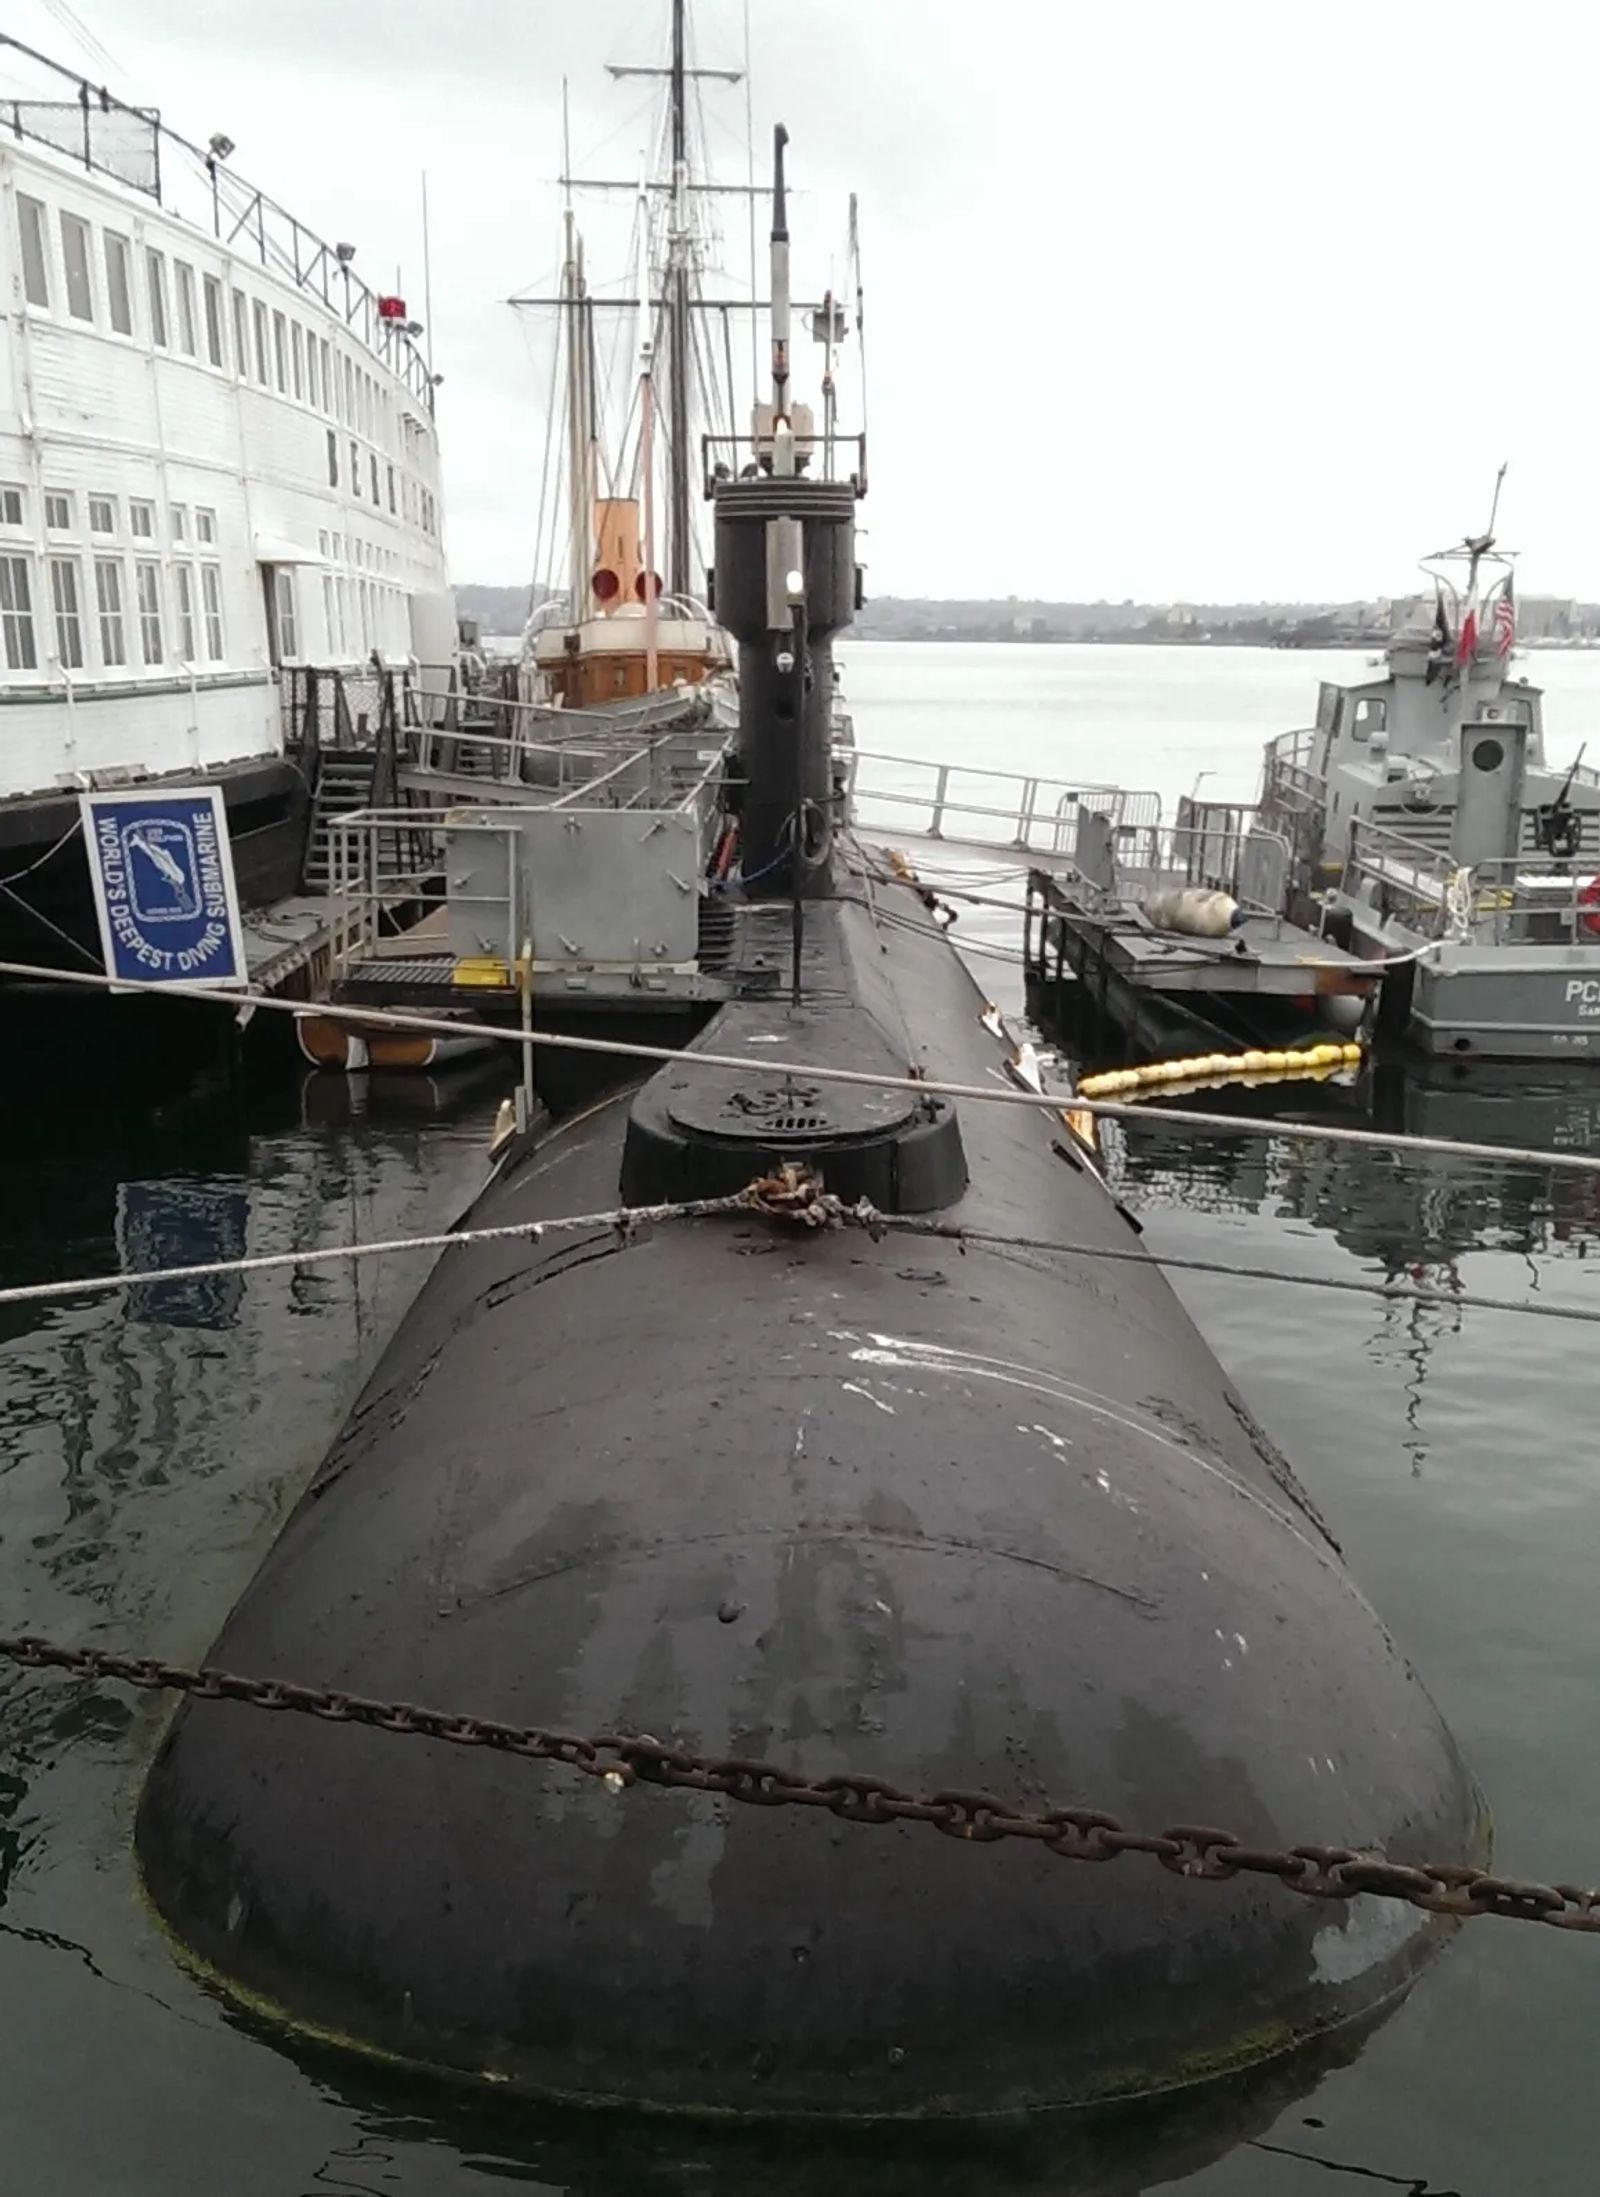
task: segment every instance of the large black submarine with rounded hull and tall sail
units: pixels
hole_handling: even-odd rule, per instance
[[[1437,1709],[1088,1151],[932,1088],[1007,1088],[1007,1039],[851,828],[864,442],[831,477],[791,398],[785,209],[780,130],[771,398],[710,481],[738,982],[510,1147],[468,1222],[785,1178],[982,1241],[723,1211],[446,1252],[211,1661],[802,1780],[1479,1859]],[[286,2032],[710,2116],[1226,2081],[1360,2034],[1448,1931],[855,1813],[207,1700],[134,1837],[182,1958]]]

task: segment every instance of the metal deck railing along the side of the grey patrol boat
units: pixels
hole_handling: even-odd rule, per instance
[[[1448,848],[1358,817],[1341,883],[1347,899],[1422,938],[1600,947],[1593,857],[1525,852],[1459,863]]]

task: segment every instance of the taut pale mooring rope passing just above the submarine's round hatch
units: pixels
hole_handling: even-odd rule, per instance
[[[1530,1145],[1475,1145],[1448,1136],[1409,1136],[1400,1129],[1349,1129],[1336,1123],[1310,1120],[1264,1120],[1253,1114],[1202,1114],[1191,1107],[1163,1107],[1152,1114],[1145,1105],[1127,1105],[1116,1098],[1075,1098],[1070,1092],[1033,1092],[1002,1083],[956,1083],[943,1077],[921,1074],[873,1074],[864,1068],[824,1068],[815,1061],[754,1059],[738,1052],[703,1052],[699,1048],[642,1046],[620,1037],[578,1037],[569,1030],[523,1030],[495,1022],[459,1022],[446,1015],[411,1015],[382,1006],[308,1004],[305,1000],[268,1000],[264,993],[218,991],[213,984],[119,984],[103,973],[79,969],[48,969],[35,962],[0,962],[0,975],[18,975],[44,984],[84,984],[99,991],[141,991],[176,1000],[209,1000],[246,1017],[259,1011],[279,1015],[325,1015],[332,1022],[349,1022],[376,1030],[426,1030],[435,1037],[484,1037],[508,1046],[536,1046],[552,1052],[609,1055],[626,1061],[651,1061],[653,1066],[677,1066],[686,1070],[736,1070],[738,1074],[800,1077],[809,1083],[837,1083],[875,1092],[910,1092],[916,1098],[967,1098],[974,1105],[1020,1105],[1044,1107],[1062,1114],[1070,1107],[1079,1114],[1095,1114],[1105,1120],[1134,1120],[1141,1127],[1169,1123],[1180,1129],[1222,1129],[1233,1136],[1290,1138],[1308,1145],[1356,1145],[1369,1151],[1418,1151],[1437,1153],[1446,1160],[1492,1160],[1499,1167],[1547,1167],[1560,1173],[1600,1175],[1600,1153],[1585,1151],[1541,1151]],[[774,1013],[782,1004],[774,1002]]]

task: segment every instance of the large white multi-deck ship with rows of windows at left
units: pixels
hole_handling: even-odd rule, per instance
[[[73,962],[79,791],[218,784],[246,905],[297,892],[325,751],[448,666],[437,376],[226,136],[0,46],[0,945]]]

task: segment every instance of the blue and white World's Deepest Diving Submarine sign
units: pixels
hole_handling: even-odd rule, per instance
[[[121,984],[248,984],[218,787],[84,793],[105,973]]]

